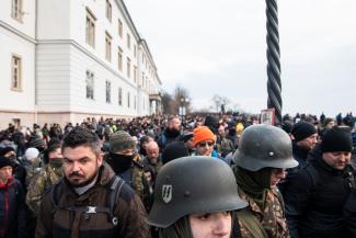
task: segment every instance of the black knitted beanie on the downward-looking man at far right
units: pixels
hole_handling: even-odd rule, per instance
[[[342,129],[334,126],[328,129],[321,140],[322,152],[335,152],[335,151],[352,151],[353,140],[351,133],[346,129]]]

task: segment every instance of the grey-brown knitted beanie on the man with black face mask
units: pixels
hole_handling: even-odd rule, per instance
[[[118,131],[112,134],[108,138],[108,144],[111,152],[117,152],[123,149],[136,148],[136,143],[133,137],[124,131]]]

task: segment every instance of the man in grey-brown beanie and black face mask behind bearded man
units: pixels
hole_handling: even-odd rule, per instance
[[[149,185],[145,177],[143,166],[139,163],[139,154],[133,137],[118,131],[110,136],[110,154],[105,158],[114,172],[137,193],[147,211],[150,206]]]

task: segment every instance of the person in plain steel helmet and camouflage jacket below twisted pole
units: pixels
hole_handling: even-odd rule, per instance
[[[246,213],[238,213],[242,237],[289,237],[276,188],[285,178],[285,169],[298,166],[288,134],[269,125],[250,126],[242,133],[233,160],[239,195],[249,203]],[[246,219],[246,214],[254,218]]]

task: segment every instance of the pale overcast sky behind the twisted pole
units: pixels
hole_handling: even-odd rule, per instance
[[[263,0],[125,0],[163,82],[193,106],[214,94],[248,112],[266,107]],[[278,1],[283,113],[356,114],[356,1]]]

